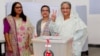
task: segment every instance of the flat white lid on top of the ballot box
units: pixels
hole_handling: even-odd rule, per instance
[[[68,40],[72,39],[71,37],[62,37],[62,36],[40,36],[33,38],[33,42],[46,42],[46,39],[49,39],[51,43],[66,43]]]

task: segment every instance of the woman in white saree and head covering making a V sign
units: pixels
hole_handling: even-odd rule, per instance
[[[61,3],[61,15],[56,18],[54,11],[49,28],[51,35],[73,38],[73,56],[81,56],[82,47],[87,37],[87,27],[77,13],[73,13],[70,2]]]

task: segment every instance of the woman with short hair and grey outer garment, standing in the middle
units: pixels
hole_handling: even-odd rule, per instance
[[[49,36],[50,31],[49,31],[49,23],[50,23],[50,8],[47,5],[43,5],[41,7],[41,15],[42,18],[37,22],[37,36],[45,35]]]

